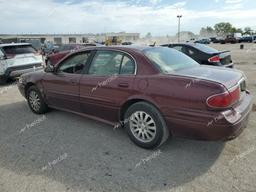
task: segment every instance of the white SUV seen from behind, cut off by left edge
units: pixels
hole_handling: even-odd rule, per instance
[[[43,57],[31,44],[0,44],[0,84],[40,69],[43,69]]]

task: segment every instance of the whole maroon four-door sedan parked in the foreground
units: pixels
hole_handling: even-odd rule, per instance
[[[201,66],[164,47],[87,48],[23,75],[18,87],[34,113],[50,107],[122,125],[150,149],[169,135],[233,139],[252,104],[240,71]]]

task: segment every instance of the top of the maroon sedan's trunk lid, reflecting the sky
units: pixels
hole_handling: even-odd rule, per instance
[[[193,77],[198,80],[214,81],[223,84],[227,89],[236,85],[242,78],[245,78],[243,72],[224,67],[211,67],[200,65],[176,71],[177,75]]]

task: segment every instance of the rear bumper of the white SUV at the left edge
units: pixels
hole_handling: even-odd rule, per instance
[[[38,71],[43,69],[42,63],[35,63],[30,65],[9,67],[5,71],[6,77],[18,77],[22,74]]]

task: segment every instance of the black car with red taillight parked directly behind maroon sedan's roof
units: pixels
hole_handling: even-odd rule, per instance
[[[162,46],[181,51],[203,65],[233,68],[233,62],[229,51],[218,51],[199,43],[176,43],[165,44]]]

